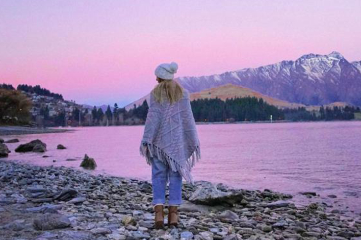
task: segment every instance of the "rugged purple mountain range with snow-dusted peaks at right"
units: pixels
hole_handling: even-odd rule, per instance
[[[361,105],[361,61],[348,62],[340,53],[307,54],[296,61],[282,61],[210,76],[176,79],[189,92],[227,83],[261,94],[307,105],[336,101]]]

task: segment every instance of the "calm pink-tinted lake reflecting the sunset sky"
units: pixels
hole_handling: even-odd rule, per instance
[[[144,126],[74,128],[67,133],[4,136],[21,143],[40,139],[41,153],[15,153],[9,160],[35,165],[79,168],[84,154],[95,158],[96,173],[150,180],[151,168],[139,155]],[[202,159],[195,180],[222,182],[245,189],[271,189],[309,199],[317,192],[340,210],[361,212],[361,121],[197,125]],[[57,150],[63,144],[65,150]],[[78,161],[65,161],[76,158]],[[57,160],[53,163],[52,160]],[[328,195],[335,194],[336,198]]]

